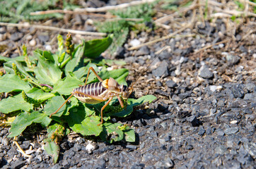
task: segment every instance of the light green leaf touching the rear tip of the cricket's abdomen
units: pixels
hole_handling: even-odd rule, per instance
[[[64,80],[59,80],[52,89],[52,93],[59,92],[59,94],[69,95],[73,89],[79,87],[79,84],[83,84],[81,80],[76,77],[66,77]]]

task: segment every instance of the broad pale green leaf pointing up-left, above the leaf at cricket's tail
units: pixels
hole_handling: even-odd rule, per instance
[[[49,61],[39,53],[35,52],[35,56],[38,59],[37,67],[34,68],[35,77],[40,83],[55,84],[62,77],[62,70],[58,65]]]

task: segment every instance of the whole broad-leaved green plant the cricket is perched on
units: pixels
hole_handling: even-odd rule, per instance
[[[64,105],[50,118],[49,115],[64,103],[72,89],[84,84],[89,67],[99,70],[93,60],[85,64],[85,56],[97,58],[112,42],[110,36],[83,42],[72,48],[70,38],[67,37],[68,43],[64,43],[62,37],[58,36],[59,49],[55,54],[36,50],[34,56],[28,56],[23,46],[23,56],[16,58],[0,56],[0,61],[4,62],[6,70],[6,74],[0,76],[0,92],[8,93],[8,98],[0,101],[0,112],[7,116],[15,115],[8,137],[18,136],[26,127],[34,123],[47,127],[45,150],[52,155],[54,163],[59,156],[58,143],[62,137],[69,134],[70,130],[83,136],[93,135],[110,143],[121,140],[135,142],[134,130],[120,123],[110,123],[110,117],[125,117],[132,113],[134,106],[156,99],[151,95],[128,99],[124,109],[117,104],[117,99],[113,99],[110,106],[105,108],[104,123],[98,125],[100,123],[98,110],[104,103],[90,105],[72,97],[69,104]],[[69,54],[64,51],[64,44]],[[119,84],[126,84],[127,69],[107,71],[104,64],[101,66],[103,68],[98,73],[100,77],[103,79],[112,77]],[[97,82],[93,73],[88,77],[88,83],[91,82]]]

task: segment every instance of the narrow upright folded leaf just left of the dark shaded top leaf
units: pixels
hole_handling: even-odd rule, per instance
[[[86,49],[85,42],[78,46],[78,49],[76,50],[76,53],[74,54],[74,58],[69,61],[69,63],[65,66],[65,73],[66,75],[69,75],[69,72],[74,72],[78,70],[78,68],[83,67],[83,54]]]

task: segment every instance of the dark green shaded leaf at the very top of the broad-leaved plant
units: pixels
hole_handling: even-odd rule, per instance
[[[86,42],[86,51],[84,55],[88,58],[98,58],[103,51],[112,43],[113,35],[110,35],[104,39],[93,39]]]

